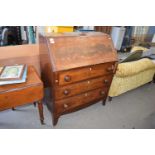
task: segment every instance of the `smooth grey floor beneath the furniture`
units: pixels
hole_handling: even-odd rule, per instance
[[[48,90],[46,91],[46,94]],[[154,129],[155,128],[155,84],[146,84],[106,102],[60,117],[53,127],[52,117],[44,105],[45,125],[39,121],[34,105],[17,107],[15,111],[0,112],[0,128],[7,129]],[[48,95],[46,95],[46,102]]]

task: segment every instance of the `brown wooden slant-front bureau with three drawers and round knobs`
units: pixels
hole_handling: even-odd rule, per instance
[[[51,87],[53,125],[58,118],[102,100],[116,71],[117,53],[100,32],[39,36],[41,75]]]

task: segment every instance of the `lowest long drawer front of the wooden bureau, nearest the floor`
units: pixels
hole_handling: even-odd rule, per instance
[[[90,102],[97,101],[99,99],[105,99],[107,96],[107,89],[99,88],[87,93],[83,93],[74,97],[56,101],[57,113],[63,113],[76,108],[80,108]]]

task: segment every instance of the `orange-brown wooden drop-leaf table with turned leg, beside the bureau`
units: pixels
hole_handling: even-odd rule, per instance
[[[28,67],[27,80],[21,84],[0,86],[0,111],[14,109],[17,106],[38,103],[41,124],[43,116],[43,83],[33,66]]]

